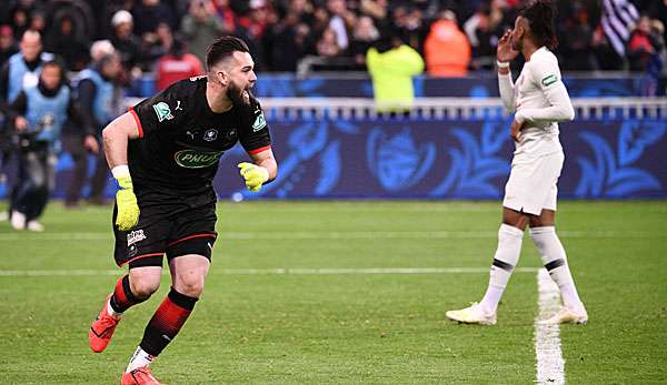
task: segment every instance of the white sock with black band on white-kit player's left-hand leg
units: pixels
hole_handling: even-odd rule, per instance
[[[511,271],[519,261],[524,231],[502,223],[498,230],[498,249],[494,255],[494,264],[489,277],[489,286],[479,303],[486,314],[496,312],[502,292],[511,276]]]

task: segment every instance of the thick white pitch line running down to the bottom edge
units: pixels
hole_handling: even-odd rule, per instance
[[[535,355],[538,384],[565,384],[565,359],[560,352],[560,327],[542,325],[560,308],[560,292],[545,269],[537,272],[539,314],[535,317]]]

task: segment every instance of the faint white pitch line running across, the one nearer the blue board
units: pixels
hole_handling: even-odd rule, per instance
[[[559,231],[559,236],[574,239],[654,239],[665,234],[619,231]],[[346,232],[220,232],[221,240],[391,240],[391,239],[496,239],[496,231],[346,231]],[[112,240],[104,233],[3,233],[0,242],[12,241],[102,241]]]

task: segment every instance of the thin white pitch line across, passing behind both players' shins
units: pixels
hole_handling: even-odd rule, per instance
[[[537,267],[517,267],[518,273],[535,273]],[[219,269],[213,275],[344,275],[344,274],[479,274],[489,267],[327,267],[327,269]],[[0,276],[99,276],[118,275],[122,270],[0,270]],[[165,274],[168,271],[165,270]]]

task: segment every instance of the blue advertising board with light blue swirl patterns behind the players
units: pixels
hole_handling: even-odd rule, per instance
[[[248,155],[237,145],[221,159],[215,186],[221,199],[496,200],[504,194],[514,150],[509,123],[508,119],[275,121],[270,128],[278,179],[259,194],[246,191],[236,163]],[[665,120],[561,123],[560,141],[566,161],[559,196],[667,197]],[[62,153],[56,197],[64,196],[72,170],[70,154]],[[0,184],[0,196],[7,190]]]

